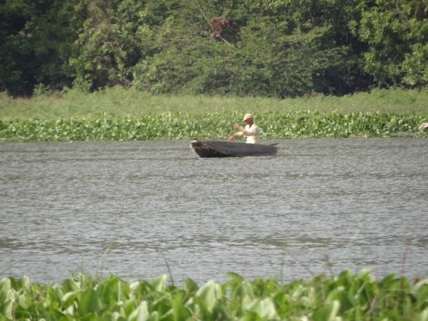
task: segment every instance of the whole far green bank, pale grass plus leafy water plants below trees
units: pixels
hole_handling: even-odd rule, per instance
[[[427,137],[428,92],[373,90],[300,99],[151,96],[108,88],[92,94],[0,95],[1,142],[227,139],[244,113],[262,139]]]

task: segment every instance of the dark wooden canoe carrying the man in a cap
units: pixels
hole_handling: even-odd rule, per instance
[[[277,144],[246,144],[218,140],[192,140],[191,148],[200,157],[273,156],[278,153]]]

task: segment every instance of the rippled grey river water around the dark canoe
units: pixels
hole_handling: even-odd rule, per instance
[[[428,275],[428,139],[276,142],[229,159],[189,141],[1,143],[0,278]]]

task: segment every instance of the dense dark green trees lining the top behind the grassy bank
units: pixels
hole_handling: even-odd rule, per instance
[[[296,97],[428,86],[425,0],[0,0],[13,95]]]

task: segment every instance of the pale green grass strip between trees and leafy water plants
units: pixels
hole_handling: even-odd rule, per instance
[[[310,110],[320,113],[398,113],[414,115],[428,110],[428,90],[378,90],[344,97],[315,95],[296,99],[266,97],[153,96],[134,89],[106,88],[95,93],[68,90],[62,93],[35,93],[30,99],[14,99],[0,93],[0,119],[59,119],[90,117],[95,114],[117,117],[149,113],[293,113]]]

